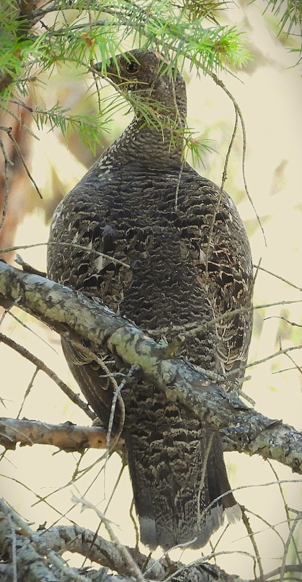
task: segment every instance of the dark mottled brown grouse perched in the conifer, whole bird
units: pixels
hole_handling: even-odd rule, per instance
[[[48,276],[97,297],[157,339],[162,331],[189,363],[240,378],[253,317],[250,245],[229,195],[183,159],[183,77],[169,72],[158,52],[140,50],[111,59],[106,75],[129,95],[134,119],[56,208]],[[81,391],[108,427],[110,375],[125,365],[105,350],[98,353],[101,365],[69,339],[62,345]],[[221,436],[135,374],[122,399],[113,431],[124,404],[141,542],[151,549],[204,546],[225,514],[230,522],[241,516]]]

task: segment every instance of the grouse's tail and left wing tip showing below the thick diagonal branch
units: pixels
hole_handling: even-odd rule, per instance
[[[62,347],[82,392],[106,425],[112,404],[108,378],[68,340],[62,340]],[[202,548],[225,514],[230,523],[241,517],[232,492],[227,493],[221,437],[203,430],[154,386],[134,380],[132,392],[128,384],[122,393],[124,434],[141,542],[150,549],[190,542],[191,548]],[[117,409],[113,432],[118,427]]]

